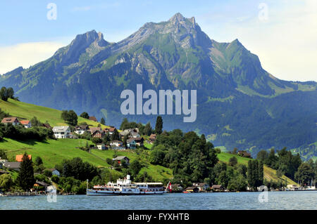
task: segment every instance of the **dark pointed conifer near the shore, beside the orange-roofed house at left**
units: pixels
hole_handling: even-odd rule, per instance
[[[32,188],[35,183],[32,161],[29,159],[29,157],[27,157],[26,152],[23,154],[17,182],[18,185],[26,191],[30,190],[30,188]]]

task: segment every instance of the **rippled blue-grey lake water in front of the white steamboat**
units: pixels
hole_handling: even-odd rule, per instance
[[[267,202],[259,202],[261,192],[222,192],[164,194],[147,196],[57,196],[48,202],[46,196],[0,197],[0,209],[317,209],[317,191],[266,192]]]

